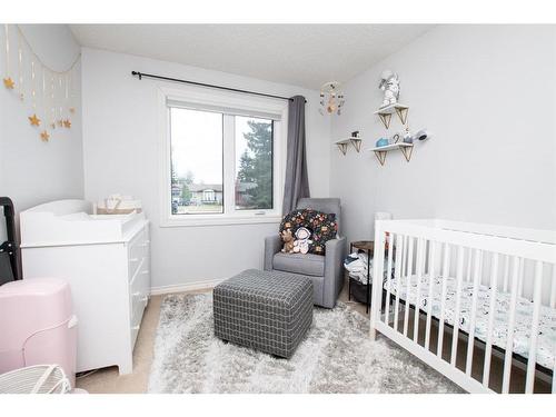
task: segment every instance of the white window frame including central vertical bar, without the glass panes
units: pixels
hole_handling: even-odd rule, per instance
[[[240,116],[260,118],[261,113],[276,115],[272,137],[272,202],[271,210],[235,209],[235,160],[236,140],[226,141],[226,137],[235,138],[235,120],[224,117],[224,214],[172,215],[171,212],[171,138],[170,110],[168,102],[183,102],[185,108],[197,108],[207,111],[210,108],[229,108],[241,111]],[[208,90],[199,87],[158,88],[159,135],[160,143],[160,226],[195,227],[244,224],[268,224],[281,220],[284,196],[286,135],[288,123],[288,102],[286,100],[238,95],[227,91]],[[172,106],[177,107],[177,106]],[[232,187],[231,189],[229,187]],[[227,211],[229,209],[231,211]]]

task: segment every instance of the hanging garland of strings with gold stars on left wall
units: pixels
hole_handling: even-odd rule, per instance
[[[31,127],[41,127],[39,137],[48,142],[57,127],[71,128],[76,113],[76,64],[56,70],[44,64],[17,24],[4,24],[4,87],[27,103]],[[17,47],[17,49],[14,49]],[[16,64],[12,64],[16,63]]]

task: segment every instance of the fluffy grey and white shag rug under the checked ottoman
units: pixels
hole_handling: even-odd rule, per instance
[[[172,295],[161,305],[149,393],[461,393],[339,302],[315,308],[288,359],[225,344],[212,330],[212,295]]]

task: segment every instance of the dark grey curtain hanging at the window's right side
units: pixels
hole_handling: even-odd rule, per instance
[[[307,176],[307,148],[305,145],[305,97],[296,96],[289,100],[282,214],[287,215],[294,210],[297,201],[304,197],[310,197],[309,178]]]

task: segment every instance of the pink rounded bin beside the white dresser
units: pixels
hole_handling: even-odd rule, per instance
[[[57,278],[0,287],[0,374],[57,364],[76,386],[77,318],[69,285]]]

